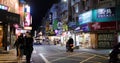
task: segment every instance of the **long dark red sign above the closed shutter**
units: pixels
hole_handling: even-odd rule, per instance
[[[116,30],[116,22],[95,22],[89,25],[91,30]]]

